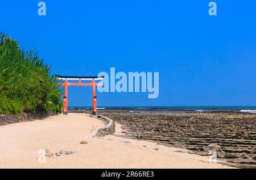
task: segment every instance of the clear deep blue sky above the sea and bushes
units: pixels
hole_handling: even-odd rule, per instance
[[[159,72],[159,97],[97,93],[98,106],[256,105],[256,1],[1,1],[0,31],[39,51],[53,74]],[[69,106],[90,106],[70,87]]]

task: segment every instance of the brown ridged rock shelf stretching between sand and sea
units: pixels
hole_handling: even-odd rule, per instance
[[[217,158],[237,168],[256,168],[256,115],[218,113],[102,113],[123,124],[126,136],[152,140]]]

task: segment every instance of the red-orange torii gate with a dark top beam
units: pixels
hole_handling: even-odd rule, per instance
[[[63,97],[63,114],[68,114],[68,86],[92,86],[93,91],[93,115],[96,115],[97,105],[96,105],[96,91],[95,86],[103,86],[103,83],[96,83],[96,80],[104,79],[104,76],[60,76],[55,75],[57,79],[65,80],[63,83],[58,83],[58,85],[65,86],[65,95]],[[68,80],[79,80],[77,83],[68,82]],[[81,80],[90,80],[90,83],[82,83]]]

